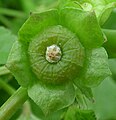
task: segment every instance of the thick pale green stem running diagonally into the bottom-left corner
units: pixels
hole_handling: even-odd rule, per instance
[[[27,89],[20,87],[0,108],[0,120],[9,120],[27,99]]]

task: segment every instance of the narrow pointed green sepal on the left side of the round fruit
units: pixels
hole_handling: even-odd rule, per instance
[[[21,44],[16,41],[10,51],[6,67],[14,75],[18,83],[24,87],[30,84],[31,80],[34,79],[34,75],[29,67],[29,62],[27,61],[27,55],[23,51],[24,48]]]

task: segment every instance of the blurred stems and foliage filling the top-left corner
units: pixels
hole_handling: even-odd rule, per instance
[[[31,12],[43,11],[57,0],[0,0],[0,25],[17,34]]]

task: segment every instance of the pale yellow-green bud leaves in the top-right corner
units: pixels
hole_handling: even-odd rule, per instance
[[[116,7],[115,0],[77,0],[85,11],[94,10],[100,25],[109,18],[112,10]]]

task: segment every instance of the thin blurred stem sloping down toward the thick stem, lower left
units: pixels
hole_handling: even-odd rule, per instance
[[[3,88],[9,95],[15,92],[15,89],[8,85],[5,81],[0,79],[0,87]]]

